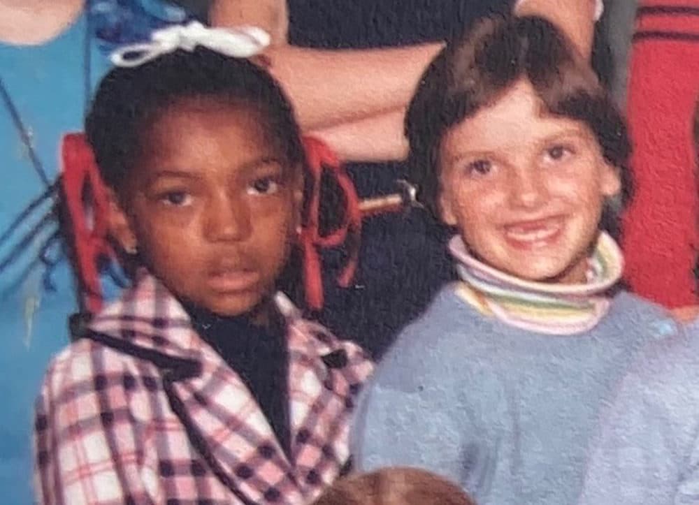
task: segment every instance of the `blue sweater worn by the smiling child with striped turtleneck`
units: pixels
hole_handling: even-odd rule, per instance
[[[479,505],[575,503],[603,402],[643,344],[675,332],[662,309],[621,293],[589,332],[540,335],[447,286],[364,388],[356,465],[435,471]]]

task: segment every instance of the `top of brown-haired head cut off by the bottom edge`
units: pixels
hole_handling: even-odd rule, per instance
[[[313,505],[474,505],[458,485],[428,471],[387,468],[341,479]]]

